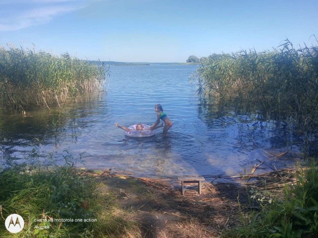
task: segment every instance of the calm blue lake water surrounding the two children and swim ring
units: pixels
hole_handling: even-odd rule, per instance
[[[287,151],[284,125],[265,122],[231,106],[211,110],[198,103],[189,76],[196,65],[110,66],[107,93],[93,103],[52,110],[0,115],[0,166],[7,162],[77,161],[88,169],[113,168],[140,177],[175,178],[201,175],[207,180],[247,172],[271,155]],[[115,127],[153,124],[160,103],[173,122],[149,138],[129,138]],[[61,154],[64,156],[61,156]],[[273,158],[257,173],[292,167],[297,151]],[[43,159],[45,157],[45,160]]]

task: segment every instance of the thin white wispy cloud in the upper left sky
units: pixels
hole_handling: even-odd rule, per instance
[[[45,24],[54,17],[84,7],[82,0],[33,0],[35,3],[19,1],[21,4],[0,3],[0,31],[14,31],[32,25]]]

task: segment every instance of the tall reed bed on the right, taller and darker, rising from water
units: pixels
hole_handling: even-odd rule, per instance
[[[300,133],[318,132],[318,46],[295,49],[287,39],[272,51],[210,57],[196,79],[202,104],[236,100],[267,118],[290,120]]]

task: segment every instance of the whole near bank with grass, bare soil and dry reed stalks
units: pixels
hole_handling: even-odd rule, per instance
[[[265,182],[265,187],[204,182],[201,195],[196,187],[182,195],[168,179],[137,179],[123,171],[69,166],[36,172],[16,167],[0,173],[0,219],[17,213],[25,228],[10,234],[2,222],[0,234],[4,238],[316,238],[317,164],[291,171],[293,183],[276,183],[280,189],[269,189],[273,187],[269,180],[276,177],[279,183],[287,171],[265,174],[269,185]]]

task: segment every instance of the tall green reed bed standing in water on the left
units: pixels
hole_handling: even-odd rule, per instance
[[[28,107],[61,105],[68,98],[87,96],[101,89],[105,64],[60,57],[22,47],[0,46],[0,101],[2,107],[24,112]]]

